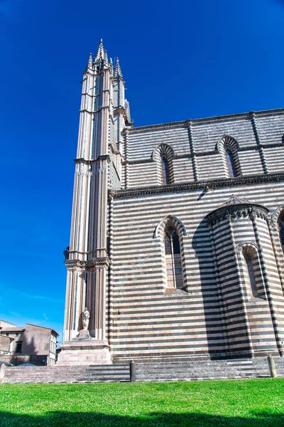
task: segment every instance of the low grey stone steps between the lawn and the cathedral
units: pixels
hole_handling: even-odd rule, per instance
[[[274,361],[277,375],[284,376],[284,357],[275,357]],[[136,381],[197,381],[266,376],[270,376],[266,357],[136,363]],[[6,367],[4,375],[4,383],[99,381],[130,381],[129,363],[89,366]]]

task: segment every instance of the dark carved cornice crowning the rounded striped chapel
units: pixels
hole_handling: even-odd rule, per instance
[[[247,216],[256,216],[258,218],[268,219],[268,212],[269,209],[258,204],[235,204],[216,209],[205,216],[205,218],[207,219],[209,226],[214,226],[215,223],[218,223],[228,217],[235,219],[246,218]]]

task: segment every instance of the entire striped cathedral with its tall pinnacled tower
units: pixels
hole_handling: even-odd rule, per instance
[[[284,109],[133,127],[101,41],[82,83],[58,363],[283,356],[283,159]]]

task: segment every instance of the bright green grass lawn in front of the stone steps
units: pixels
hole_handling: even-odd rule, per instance
[[[284,379],[4,384],[0,426],[284,426]]]

